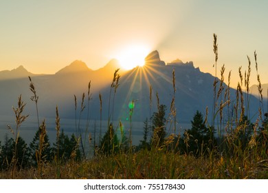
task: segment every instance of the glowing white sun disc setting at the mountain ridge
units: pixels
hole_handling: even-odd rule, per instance
[[[131,70],[137,66],[144,65],[144,59],[149,53],[146,45],[129,45],[119,52],[116,59],[125,70]]]

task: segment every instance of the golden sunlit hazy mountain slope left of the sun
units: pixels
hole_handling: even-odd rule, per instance
[[[90,70],[82,61],[74,61],[56,74],[50,75],[32,74],[22,67],[12,71],[2,71],[0,72],[0,114],[13,116],[12,106],[16,106],[17,98],[22,94],[23,101],[27,103],[25,113],[36,115],[34,103],[30,101],[32,96],[29,89],[28,76],[30,76],[39,96],[38,108],[41,116],[53,117],[58,105],[62,116],[73,117],[74,112],[70,111],[74,111],[74,94],[80,102],[82,92],[87,94],[89,81],[91,81],[91,92],[98,92],[111,81],[116,68],[118,68],[117,61],[111,60],[100,70]],[[7,76],[13,79],[6,79]]]

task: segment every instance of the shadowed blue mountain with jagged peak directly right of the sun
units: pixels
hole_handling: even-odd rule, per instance
[[[209,108],[209,117],[212,117],[213,103],[213,83],[214,77],[211,74],[203,73],[199,68],[194,68],[193,63],[183,63],[173,61],[165,65],[164,61],[159,58],[159,53],[154,51],[146,57],[146,65],[143,68],[130,70],[120,79],[120,85],[115,94],[114,117],[115,119],[129,119],[129,103],[135,101],[133,120],[144,121],[146,117],[155,112],[157,108],[156,92],[159,95],[159,103],[167,107],[167,114],[170,112],[170,103],[172,101],[172,70],[175,70],[176,79],[176,107],[177,120],[183,123],[188,122],[199,110],[205,114],[205,108]],[[153,88],[153,105],[150,113],[150,85]],[[227,85],[225,85],[227,88]],[[102,113],[103,117],[108,117],[110,85],[100,91],[103,98]],[[113,89],[111,95],[110,109],[112,111]],[[232,107],[236,99],[236,90],[230,89]],[[224,92],[220,99],[224,98]],[[258,100],[252,96],[250,110],[252,114],[258,112]],[[91,104],[94,119],[98,119],[100,105],[98,96],[93,97]],[[230,111],[234,108],[230,108]],[[227,112],[225,112],[227,113]],[[96,116],[94,116],[96,115]],[[255,120],[254,120],[255,121]]]

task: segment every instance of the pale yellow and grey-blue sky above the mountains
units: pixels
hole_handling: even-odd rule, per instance
[[[268,83],[267,8],[265,0],[0,0],[0,70],[23,65],[32,73],[54,74],[76,59],[97,70],[139,46],[158,50],[166,63],[193,61],[214,74],[216,33],[225,79],[232,70],[236,85],[248,55],[256,83],[256,50],[260,80]]]

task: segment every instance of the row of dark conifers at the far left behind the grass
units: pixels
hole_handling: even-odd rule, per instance
[[[10,170],[12,168],[15,148],[16,167],[18,167],[18,169],[32,166],[36,167],[39,159],[38,150],[40,149],[40,132],[41,130],[39,129],[29,145],[27,145],[21,136],[15,141],[13,138],[8,138],[8,134],[6,134],[3,143],[0,141],[0,170]],[[80,161],[82,156],[77,144],[76,136],[74,136],[74,134],[69,137],[62,131],[60,132],[56,143],[51,145],[49,137],[45,134],[41,159],[43,163],[56,163],[56,160],[61,163],[66,163],[71,159]]]

